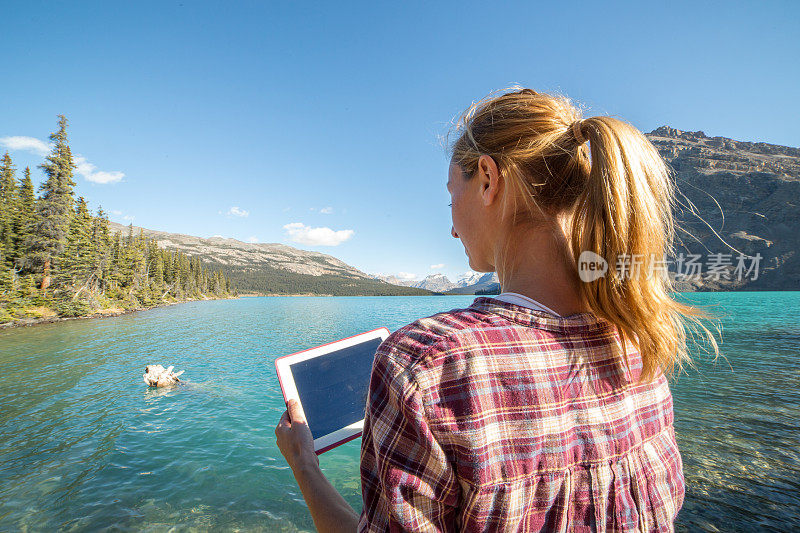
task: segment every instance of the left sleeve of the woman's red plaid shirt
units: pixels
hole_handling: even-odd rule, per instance
[[[358,531],[455,531],[461,488],[407,361],[379,348],[361,443]]]

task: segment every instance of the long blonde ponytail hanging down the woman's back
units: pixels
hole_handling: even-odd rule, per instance
[[[685,325],[714,336],[699,319],[703,310],[675,301],[666,260],[675,238],[675,186],[669,168],[639,130],[611,117],[581,121],[591,165],[571,225],[572,254],[593,252],[607,261],[605,276],[581,283],[582,299],[615,324],[642,358],[641,380],[657,370],[669,375],[691,363]],[[660,274],[663,273],[663,274]]]

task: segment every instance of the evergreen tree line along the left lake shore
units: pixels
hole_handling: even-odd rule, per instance
[[[8,152],[0,162],[0,322],[47,309],[78,316],[236,293],[220,269],[162,250],[141,231],[134,235],[132,225],[125,236],[112,234],[102,207],[92,214],[75,198],[63,115],[50,141],[38,195],[29,167],[18,180]]]

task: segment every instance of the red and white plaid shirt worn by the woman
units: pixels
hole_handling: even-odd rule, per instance
[[[590,313],[493,298],[418,320],[375,356],[359,531],[671,531],[672,396]],[[616,354],[616,355],[615,355]]]

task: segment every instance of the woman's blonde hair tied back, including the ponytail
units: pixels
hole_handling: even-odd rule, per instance
[[[656,148],[622,120],[582,119],[566,97],[513,89],[464,112],[452,162],[470,179],[481,155],[494,159],[512,224],[547,224],[566,215],[566,263],[574,278],[583,252],[607,261],[604,276],[579,284],[580,298],[594,315],[616,325],[623,354],[626,341],[638,349],[640,382],[654,379],[658,370],[671,376],[676,366],[692,364],[687,329],[699,328],[719,355],[701,320],[714,317],[674,300],[668,276],[641,275],[667,257],[675,238],[676,188]],[[620,275],[620,257],[641,257],[642,270]]]

